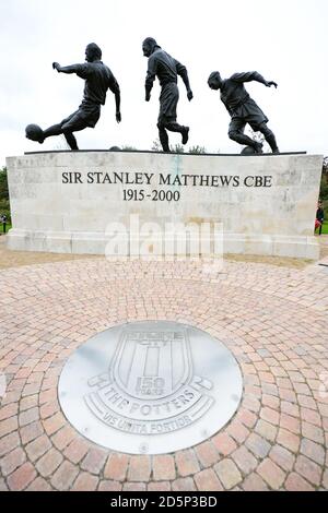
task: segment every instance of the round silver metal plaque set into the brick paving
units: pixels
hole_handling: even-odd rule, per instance
[[[218,339],[175,322],[136,322],[81,346],[59,380],[74,428],[98,445],[164,454],[222,429],[243,394],[239,367]]]

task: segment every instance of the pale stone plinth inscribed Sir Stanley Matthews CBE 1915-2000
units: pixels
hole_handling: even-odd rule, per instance
[[[102,254],[116,235],[118,253],[128,248],[137,254],[138,243],[151,253],[161,248],[163,234],[180,224],[196,230],[211,226],[212,232],[222,227],[225,253],[317,259],[321,164],[321,156],[303,154],[81,151],[9,157],[8,244]]]

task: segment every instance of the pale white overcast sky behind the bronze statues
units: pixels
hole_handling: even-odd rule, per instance
[[[187,100],[179,81],[178,121],[190,126],[190,145],[239,152],[207,79],[215,70],[224,77],[256,70],[279,84],[274,90],[253,82],[247,90],[269,117],[280,150],[328,155],[327,0],[0,0],[0,166],[5,156],[65,147],[62,138],[43,145],[27,141],[24,129],[45,129],[78,108],[83,81],[58,74],[51,63],[83,62],[91,41],[120,84],[122,122],[115,121],[108,92],[95,129],[78,133],[80,147],[151,148],[160,87],[155,82],[145,103],[141,45],[148,36],[188,69],[195,97]],[[171,142],[180,142],[179,135]]]

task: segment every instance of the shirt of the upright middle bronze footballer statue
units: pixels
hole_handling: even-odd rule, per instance
[[[186,73],[186,67],[159,48],[148,60],[145,86],[152,88],[155,77],[159,77],[161,86],[172,82],[177,83],[177,75]]]

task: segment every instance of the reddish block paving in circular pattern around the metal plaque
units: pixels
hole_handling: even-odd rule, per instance
[[[0,490],[328,489],[328,267],[85,259],[3,270],[0,284]],[[94,334],[155,319],[225,343],[242,405],[186,451],[104,450],[66,420],[58,377]]]

